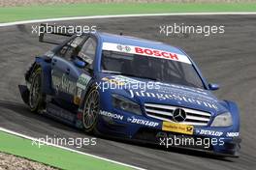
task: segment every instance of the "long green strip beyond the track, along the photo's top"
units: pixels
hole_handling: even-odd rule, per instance
[[[63,4],[0,8],[0,22],[63,16],[187,12],[256,12],[256,3]]]

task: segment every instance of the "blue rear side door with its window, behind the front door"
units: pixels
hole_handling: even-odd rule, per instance
[[[73,58],[78,53],[78,46],[86,37],[75,37],[64,44],[51,61],[51,87],[54,91],[53,99],[65,105],[72,103],[76,94],[76,83],[73,78],[78,78],[80,72],[73,63]]]

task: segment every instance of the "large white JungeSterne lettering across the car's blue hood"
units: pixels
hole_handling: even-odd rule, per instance
[[[215,110],[218,109],[217,105],[212,101],[191,98],[185,95],[183,96],[180,94],[173,93],[171,91],[168,94],[134,91],[134,90],[129,90],[129,92],[130,92],[131,98],[134,98],[135,96],[137,96],[137,97],[154,98],[154,99],[160,99],[160,100],[175,99],[177,101],[189,102],[197,105],[206,106],[208,108],[212,108]]]

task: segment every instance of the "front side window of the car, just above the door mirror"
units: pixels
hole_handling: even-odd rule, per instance
[[[88,64],[92,64],[96,54],[96,42],[89,38],[86,42],[81,46],[80,52],[78,56]]]

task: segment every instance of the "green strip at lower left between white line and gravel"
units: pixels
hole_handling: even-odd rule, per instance
[[[96,147],[96,146],[95,146]],[[0,131],[0,152],[26,157],[54,167],[67,170],[128,170],[126,166],[83,156],[51,146],[32,146],[32,141]]]

